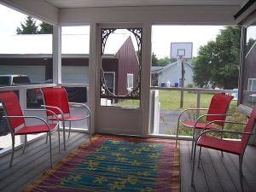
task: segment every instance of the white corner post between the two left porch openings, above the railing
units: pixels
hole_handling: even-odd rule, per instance
[[[61,26],[53,26],[53,83],[61,84]]]

